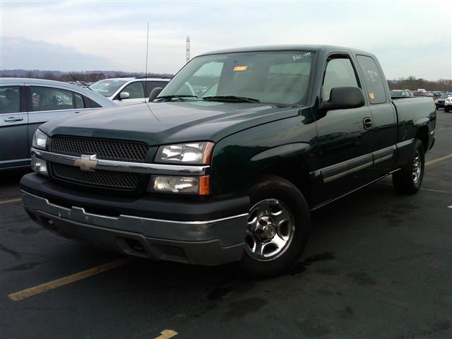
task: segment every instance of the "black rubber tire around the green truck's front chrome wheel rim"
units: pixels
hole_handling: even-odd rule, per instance
[[[293,230],[292,240],[285,245],[285,251],[282,251],[276,258],[260,261],[251,257],[251,254],[249,254],[251,247],[246,242],[245,246],[248,247],[244,250],[239,264],[244,274],[251,275],[254,278],[269,278],[285,273],[297,262],[306,247],[311,227],[311,214],[308,204],[302,192],[296,186],[273,175],[262,177],[261,181],[249,190],[249,197],[250,210],[262,201],[277,200],[283,203],[283,206],[292,213],[295,228],[291,227]]]

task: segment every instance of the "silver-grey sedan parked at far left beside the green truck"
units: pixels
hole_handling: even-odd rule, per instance
[[[30,166],[36,129],[46,121],[117,107],[92,90],[31,78],[0,78],[0,170]]]

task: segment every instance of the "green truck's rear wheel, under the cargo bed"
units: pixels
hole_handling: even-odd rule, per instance
[[[419,139],[415,139],[414,143],[410,162],[393,173],[394,188],[402,194],[415,194],[419,191],[424,177],[424,144]]]

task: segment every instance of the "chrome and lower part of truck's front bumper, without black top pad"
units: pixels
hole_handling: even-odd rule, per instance
[[[64,237],[157,260],[218,265],[242,257],[247,213],[204,221],[109,216],[59,206],[27,191],[22,194],[30,218]]]

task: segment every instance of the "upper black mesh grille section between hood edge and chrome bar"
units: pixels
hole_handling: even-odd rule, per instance
[[[148,146],[135,141],[119,141],[79,136],[54,136],[52,151],[81,156],[95,154],[98,159],[144,162]]]

